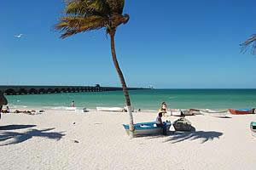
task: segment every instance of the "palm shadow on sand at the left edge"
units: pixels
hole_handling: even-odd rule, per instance
[[[0,131],[0,146],[9,145],[9,144],[19,144],[25,142],[28,139],[33,137],[42,137],[47,139],[60,140],[62,136],[65,136],[63,132],[49,132],[55,128],[47,128],[44,130],[30,129],[25,133],[16,133],[16,132],[1,132]],[[10,141],[7,141],[10,140]],[[1,144],[3,143],[3,144]]]

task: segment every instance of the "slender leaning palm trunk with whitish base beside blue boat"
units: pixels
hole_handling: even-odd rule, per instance
[[[133,138],[134,137],[134,125],[133,125],[133,116],[132,116],[132,113],[131,113],[131,101],[130,101],[130,96],[129,96],[129,93],[128,93],[128,89],[126,87],[126,83],[125,83],[125,77],[119,67],[119,62],[116,58],[116,53],[115,53],[115,48],[114,48],[114,35],[115,35],[115,29],[110,31],[109,32],[110,34],[110,38],[111,38],[111,53],[112,53],[112,58],[113,58],[113,64],[115,66],[115,69],[116,71],[118,72],[118,75],[119,75],[119,79],[120,79],[120,82],[122,84],[122,87],[123,87],[123,92],[125,94],[125,102],[126,102],[126,105],[127,105],[127,111],[128,111],[128,114],[130,116],[130,137]]]

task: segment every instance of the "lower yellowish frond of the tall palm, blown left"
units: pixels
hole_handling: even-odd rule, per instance
[[[56,30],[61,30],[61,38],[66,38],[84,31],[99,30],[106,25],[106,18],[98,15],[88,16],[86,18],[79,16],[61,17],[60,23],[55,25]]]

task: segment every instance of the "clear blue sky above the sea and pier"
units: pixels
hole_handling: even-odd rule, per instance
[[[59,39],[63,1],[1,6],[0,84],[119,86],[104,31]],[[256,33],[255,8],[255,0],[126,0],[131,20],[119,27],[116,50],[127,84],[256,88],[256,56],[239,47]]]

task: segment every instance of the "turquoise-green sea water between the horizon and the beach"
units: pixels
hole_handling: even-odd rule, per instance
[[[130,91],[135,109],[156,111],[166,101],[168,108],[252,108],[256,89],[152,89]],[[64,109],[74,100],[77,107],[124,106],[122,91],[79,94],[36,94],[7,96],[11,107]]]

